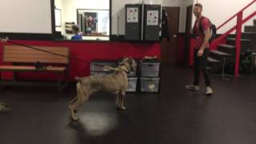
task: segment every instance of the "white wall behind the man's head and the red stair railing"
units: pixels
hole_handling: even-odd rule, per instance
[[[214,0],[214,1],[198,0],[198,2],[202,3],[203,15],[210,18],[210,20],[216,26],[220,26],[223,22],[226,22],[227,19],[229,19],[234,14],[238,13],[238,10],[242,10],[243,7],[245,7],[252,1],[253,0]],[[256,10],[256,3],[254,3],[252,6],[250,6],[248,10],[245,11],[245,13],[243,14],[243,18],[246,18],[246,16],[253,13],[253,11],[255,10]],[[194,20],[195,18],[193,18],[193,23],[194,23]],[[236,18],[234,18],[234,20],[232,20],[228,25],[218,30],[218,34],[225,33],[227,30],[231,28],[231,26],[235,26],[235,24],[236,24]],[[250,20],[249,22],[246,22],[245,25],[249,25],[249,26],[253,25],[253,21]]]

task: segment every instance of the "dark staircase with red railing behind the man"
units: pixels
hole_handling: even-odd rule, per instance
[[[223,66],[231,64],[231,66],[234,66],[234,76],[238,77],[240,55],[246,50],[256,52],[256,19],[253,20],[253,26],[244,26],[245,32],[242,33],[242,24],[251,18],[254,18],[256,15],[255,10],[246,18],[242,18],[243,11],[254,3],[256,3],[256,0],[250,2],[249,5],[240,10],[237,14],[234,14],[233,17],[228,19],[221,26],[218,26],[217,30],[219,30],[222,26],[225,26],[226,23],[230,22],[230,20],[237,18],[236,26],[233,26],[230,30],[226,31],[225,34],[220,35],[212,42],[210,56],[207,59],[207,69],[210,71],[210,73],[217,73],[223,69]],[[234,30],[236,30],[236,34],[233,36],[230,35]],[[226,44],[221,44],[223,42],[226,42]]]

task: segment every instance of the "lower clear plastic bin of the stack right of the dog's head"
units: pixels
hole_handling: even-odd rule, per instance
[[[160,78],[140,78],[142,92],[158,92]]]

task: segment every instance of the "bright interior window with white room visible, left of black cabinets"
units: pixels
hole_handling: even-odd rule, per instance
[[[79,35],[82,40],[110,40],[110,0],[55,0],[55,9],[62,11],[55,31],[64,39]],[[72,30],[74,25],[78,31]]]

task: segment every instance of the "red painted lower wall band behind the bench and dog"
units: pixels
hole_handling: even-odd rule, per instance
[[[51,42],[51,41],[15,41],[29,46],[67,46],[70,57],[90,62],[92,59],[117,59],[122,57],[142,58],[160,56],[159,43],[132,42]],[[2,65],[2,44],[0,44],[0,64]],[[90,75],[90,64],[70,61],[70,80],[74,77]],[[3,72],[2,78],[11,79],[12,74]],[[55,80],[51,73],[19,73],[18,78],[33,80]]]

